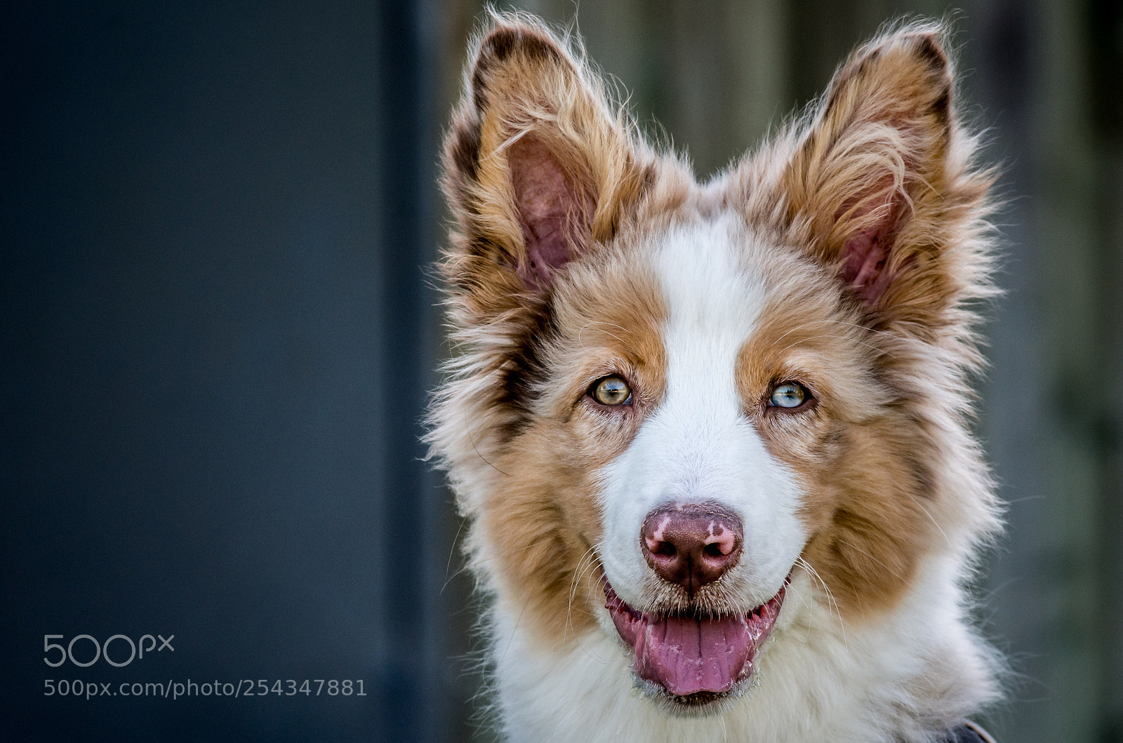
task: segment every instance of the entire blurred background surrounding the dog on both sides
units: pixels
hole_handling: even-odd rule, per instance
[[[418,443],[445,352],[437,149],[482,6],[16,4],[2,736],[489,740],[459,523]],[[1004,173],[979,432],[1008,531],[978,618],[1015,673],[986,723],[1006,743],[1123,741],[1123,4],[517,7],[575,25],[700,176],[886,19],[952,20],[966,113]],[[157,633],[174,651],[44,664],[47,634]],[[364,694],[44,690],[189,678]]]

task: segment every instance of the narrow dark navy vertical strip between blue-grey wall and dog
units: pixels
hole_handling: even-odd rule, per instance
[[[424,267],[432,260],[435,220],[430,141],[433,85],[431,49],[421,28],[421,3],[386,0],[381,6],[382,99],[381,205],[384,358],[387,373],[382,413],[386,462],[382,513],[381,580],[385,654],[378,694],[385,741],[439,737],[444,710],[439,668],[444,645],[437,611],[442,550],[433,539],[439,503],[421,460],[421,419],[433,366],[432,299]]]

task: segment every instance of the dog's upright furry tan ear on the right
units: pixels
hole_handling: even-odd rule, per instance
[[[953,82],[939,26],[868,44],[836,73],[785,174],[788,223],[875,324],[939,323],[982,281],[967,254],[992,177],[971,172]]]

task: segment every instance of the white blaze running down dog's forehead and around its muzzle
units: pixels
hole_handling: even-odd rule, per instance
[[[658,253],[667,303],[665,396],[601,478],[601,559],[617,594],[632,605],[641,605],[643,586],[656,579],[640,550],[640,526],[667,503],[713,501],[741,516],[743,553],[728,577],[749,606],[772,598],[803,549],[795,476],[765,448],[737,389],[738,352],[765,297],[759,278],[737,259],[751,239],[725,217],[669,232]]]

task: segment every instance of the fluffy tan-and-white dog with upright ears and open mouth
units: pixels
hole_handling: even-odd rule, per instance
[[[989,740],[965,584],[993,168],[947,29],[699,183],[579,42],[492,12],[444,147],[431,456],[512,741]]]

